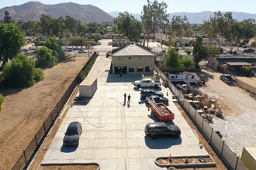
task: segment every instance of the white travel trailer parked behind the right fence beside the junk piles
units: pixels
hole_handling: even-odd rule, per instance
[[[168,79],[171,82],[184,82],[184,83],[198,83],[199,77],[196,73],[182,72],[182,73],[168,73]]]

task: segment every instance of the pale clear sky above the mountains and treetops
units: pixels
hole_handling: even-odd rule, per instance
[[[12,5],[22,5],[29,0],[0,0],[0,8]],[[74,2],[82,5],[94,5],[105,12],[133,12],[140,13],[147,0],[37,0],[43,4],[58,4],[62,2]],[[153,2],[154,0],[150,0]],[[170,12],[247,12],[256,14],[256,0],[158,0],[168,5]]]

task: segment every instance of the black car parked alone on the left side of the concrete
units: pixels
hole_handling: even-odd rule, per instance
[[[73,121],[68,125],[67,131],[63,138],[63,145],[79,145],[79,138],[81,135],[81,123]]]

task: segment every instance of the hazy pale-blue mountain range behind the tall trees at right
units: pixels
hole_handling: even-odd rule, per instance
[[[226,13],[226,12],[223,12]],[[112,15],[112,17],[117,17],[119,15],[119,12],[109,12],[109,15]],[[140,19],[140,14],[136,14],[136,13],[130,13],[130,15],[133,15],[135,19],[137,20],[141,20]],[[209,19],[209,17],[211,15],[214,15],[214,12],[209,12],[209,11],[205,11],[205,12],[175,12],[175,13],[169,13],[169,20],[171,20],[171,18],[174,15],[186,15],[187,18],[189,19],[189,22],[192,24],[199,24],[202,23],[204,20]],[[233,18],[237,19],[237,21],[242,21],[244,19],[255,19],[256,20],[256,14],[249,14],[249,13],[245,13],[245,12],[232,12]]]

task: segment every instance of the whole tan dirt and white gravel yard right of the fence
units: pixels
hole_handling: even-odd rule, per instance
[[[218,107],[223,111],[223,119],[213,117],[210,124],[215,131],[220,131],[227,145],[240,156],[244,146],[255,146],[256,143],[256,97],[233,84],[223,83],[220,73],[203,70],[208,77],[202,93],[216,99]],[[252,86],[255,79],[243,78]]]

